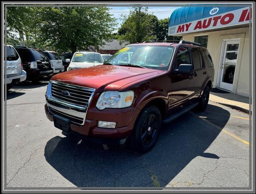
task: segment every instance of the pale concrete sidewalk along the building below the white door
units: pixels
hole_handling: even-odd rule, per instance
[[[249,114],[248,97],[243,97],[233,93],[210,92],[209,100]]]

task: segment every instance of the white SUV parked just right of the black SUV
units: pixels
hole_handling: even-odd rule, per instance
[[[53,74],[64,72],[64,66],[62,65],[62,60],[61,58],[59,58],[58,53],[56,53],[55,51],[42,51],[50,59],[51,67],[53,68]]]

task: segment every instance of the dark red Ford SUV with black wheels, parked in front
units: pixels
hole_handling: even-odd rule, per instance
[[[198,43],[130,44],[103,65],[53,76],[45,112],[67,136],[147,152],[162,121],[206,109],[213,80],[211,57]]]

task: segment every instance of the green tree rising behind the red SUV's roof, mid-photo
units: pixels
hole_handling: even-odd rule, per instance
[[[131,7],[128,16],[122,15],[123,23],[118,29],[118,40],[130,43],[144,42],[156,38],[153,29],[157,17],[148,14],[148,7]]]

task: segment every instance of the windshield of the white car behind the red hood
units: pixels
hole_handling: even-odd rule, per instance
[[[72,62],[103,63],[103,59],[100,54],[75,53]]]

